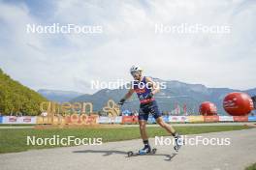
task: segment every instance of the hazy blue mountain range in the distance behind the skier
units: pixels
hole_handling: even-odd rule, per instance
[[[153,78],[156,82],[165,82],[166,88],[161,89],[155,98],[162,111],[171,112],[180,108],[181,114],[185,105],[187,112],[190,114],[198,114],[199,106],[203,101],[211,101],[216,104],[219,115],[225,115],[225,111],[222,107],[222,101],[225,96],[231,92],[244,92],[250,96],[256,95],[256,88],[240,91],[230,88],[208,88],[202,84],[188,84],[176,80],[165,81],[159,78]],[[92,102],[93,110],[100,111],[105,106],[109,99],[113,99],[118,102],[125,93],[126,89],[119,87],[118,89],[102,89],[98,92],[88,95],[80,94],[77,92],[67,91],[53,91],[53,90],[39,90],[41,95],[49,100],[55,100],[59,102],[71,101],[71,102]],[[124,105],[122,109],[137,110],[139,108],[139,101],[136,95],[133,95]]]

